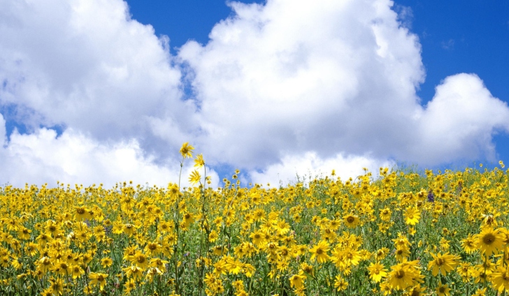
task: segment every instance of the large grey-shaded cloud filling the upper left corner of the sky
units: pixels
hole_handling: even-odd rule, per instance
[[[124,1],[2,1],[0,10],[0,103],[17,105],[32,128],[140,137],[150,119],[194,110],[180,101],[168,38],[131,20]]]

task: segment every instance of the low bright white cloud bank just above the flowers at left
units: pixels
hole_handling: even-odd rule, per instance
[[[0,124],[2,121],[0,115]],[[5,135],[3,125],[0,135],[2,133]],[[113,144],[97,142],[72,128],[59,137],[47,128],[29,135],[15,131],[8,145],[0,149],[0,163],[0,183],[15,186],[24,186],[27,182],[56,186],[57,181],[85,186],[102,183],[106,188],[129,181],[166,186],[169,182],[178,182],[180,170],[178,159],[156,165],[137,140]],[[189,186],[187,176],[192,170],[192,163],[187,162],[182,172],[182,186]],[[212,170],[208,175],[213,177],[213,185],[217,185],[217,173]]]

